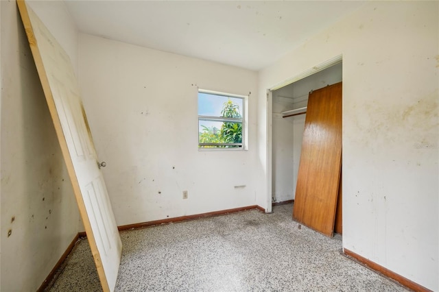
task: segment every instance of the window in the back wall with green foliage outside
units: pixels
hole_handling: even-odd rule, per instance
[[[198,148],[244,149],[244,96],[198,90]]]

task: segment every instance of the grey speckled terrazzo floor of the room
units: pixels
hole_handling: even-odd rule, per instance
[[[121,232],[115,291],[406,291],[340,254],[329,239],[291,218],[248,210]],[[102,291],[86,240],[48,291]]]

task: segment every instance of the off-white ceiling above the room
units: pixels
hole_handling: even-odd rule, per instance
[[[80,32],[263,69],[364,1],[66,1]]]

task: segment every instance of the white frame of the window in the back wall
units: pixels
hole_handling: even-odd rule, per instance
[[[216,116],[204,116],[198,114],[198,150],[199,151],[213,151],[213,150],[226,150],[226,151],[240,151],[246,150],[246,107],[247,107],[247,99],[246,95],[235,95],[232,93],[223,93],[219,91],[206,90],[198,88],[197,92],[197,106],[199,104],[199,95],[200,93],[204,93],[207,95],[219,95],[222,97],[232,97],[242,99],[242,108],[239,108],[241,112],[241,118],[227,118],[227,117],[216,117]],[[197,113],[199,112],[199,108],[197,109]],[[241,143],[200,143],[200,121],[219,121],[219,122],[238,122],[241,123]],[[206,147],[207,146],[207,147]],[[224,147],[222,147],[224,146]],[[240,147],[227,147],[227,146],[240,146]]]

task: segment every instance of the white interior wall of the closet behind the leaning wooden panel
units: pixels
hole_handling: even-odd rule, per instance
[[[283,118],[281,112],[307,106],[309,91],[341,81],[342,63],[339,63],[273,91],[272,197],[276,202],[295,197],[306,117],[301,114]]]

